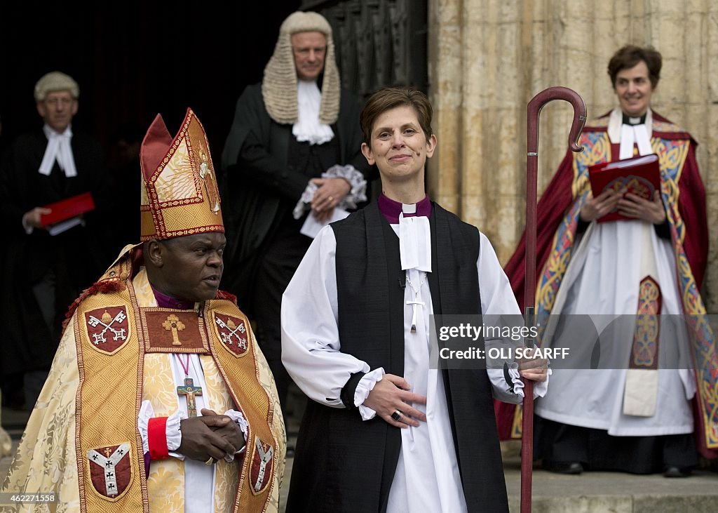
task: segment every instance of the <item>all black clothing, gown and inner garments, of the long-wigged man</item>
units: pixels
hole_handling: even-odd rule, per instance
[[[281,364],[281,295],[312,242],[299,233],[307,214],[297,220],[292,211],[309,179],[333,165],[353,165],[364,174],[369,169],[361,154],[358,102],[346,91],[332,130],[335,137],[325,144],[297,142],[292,124],[276,123],[267,114],[256,84],[237,101],[222,154],[228,235],[222,287],[256,320],[257,340],[282,405],[289,376]]]

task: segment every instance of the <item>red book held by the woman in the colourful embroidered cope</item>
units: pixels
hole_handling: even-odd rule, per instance
[[[594,198],[607,189],[626,189],[626,194],[633,193],[640,198],[651,200],[654,191],[661,191],[661,167],[658,165],[658,155],[655,153],[589,166],[588,177]],[[631,218],[622,216],[618,211],[612,211],[599,218],[598,222],[625,219]]]

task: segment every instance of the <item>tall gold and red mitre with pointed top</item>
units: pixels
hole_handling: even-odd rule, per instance
[[[224,232],[210,145],[191,108],[174,139],[157,114],[142,141],[140,165],[142,241]]]

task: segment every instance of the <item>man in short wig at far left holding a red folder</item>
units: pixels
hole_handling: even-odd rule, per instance
[[[11,144],[0,166],[0,370],[7,397],[9,382],[11,387],[24,382],[17,388],[23,389],[28,410],[47,378],[67,305],[92,285],[108,258],[102,214],[108,175],[100,142],[73,124],[80,87],[69,75],[52,71],[37,80],[34,101],[42,124]],[[45,206],[83,193],[92,195],[97,208],[50,234],[43,215],[51,211]]]

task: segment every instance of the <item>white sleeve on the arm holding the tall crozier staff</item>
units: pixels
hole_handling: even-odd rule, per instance
[[[498,262],[496,252],[491,246],[489,239],[482,233],[479,258],[476,261],[476,269],[479,276],[479,290],[481,291],[481,311],[486,323],[494,323],[500,315],[506,315],[514,323],[521,316],[521,309],[518,308],[516,297],[511,290],[511,284],[505,272]],[[505,338],[485,337],[486,349],[490,347],[510,346],[516,348],[521,346],[521,341]],[[518,364],[507,361],[508,369],[487,369],[493,395],[503,402],[518,404],[523,399],[523,382],[518,374]],[[549,376],[551,369],[549,368]],[[506,375],[508,374],[508,376]],[[510,379],[510,383],[507,381]],[[549,378],[545,382],[534,382],[533,398],[544,397],[548,389]]]

